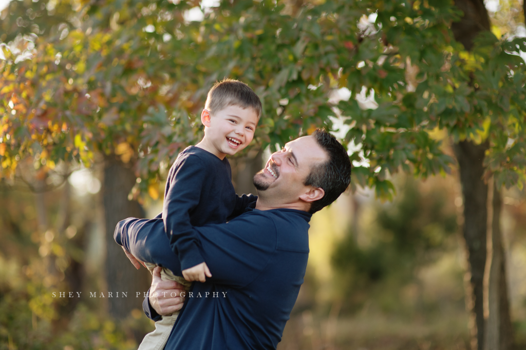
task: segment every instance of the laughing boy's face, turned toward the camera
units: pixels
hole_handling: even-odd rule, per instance
[[[217,156],[234,155],[244,149],[254,138],[258,115],[251,108],[231,105],[210,115],[201,114],[205,124],[205,139],[217,151]]]

